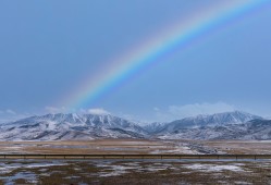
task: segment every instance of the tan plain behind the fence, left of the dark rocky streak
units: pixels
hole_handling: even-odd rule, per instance
[[[185,146],[174,143],[164,143],[144,139],[101,139],[90,141],[2,141],[1,153],[93,153],[93,155],[121,155],[121,153],[193,153]],[[196,153],[196,152],[195,152]]]

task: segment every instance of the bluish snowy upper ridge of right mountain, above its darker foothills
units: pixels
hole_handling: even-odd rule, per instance
[[[184,130],[184,128],[190,130],[202,126],[239,124],[239,123],[246,123],[250,120],[262,120],[262,118],[241,111],[217,113],[212,115],[197,115],[197,116],[173,121],[164,125],[164,127],[162,127],[161,130],[157,130],[156,134],[161,135],[161,134],[176,133],[178,130]]]

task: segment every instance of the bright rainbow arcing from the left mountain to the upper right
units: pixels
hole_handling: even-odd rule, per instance
[[[186,21],[168,26],[167,30],[158,33],[151,39],[145,40],[139,46],[132,48],[126,54],[108,62],[97,75],[90,75],[69,94],[61,104],[69,109],[78,110],[93,106],[112,89],[116,88],[131,76],[156,63],[177,47],[185,46],[229,21],[247,12],[262,7],[269,0],[221,0],[207,10],[195,12]]]

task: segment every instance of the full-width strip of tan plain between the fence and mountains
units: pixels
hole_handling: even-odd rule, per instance
[[[42,155],[271,155],[271,141],[99,139],[1,141],[0,153]]]

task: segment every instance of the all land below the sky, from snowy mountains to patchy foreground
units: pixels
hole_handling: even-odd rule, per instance
[[[0,184],[271,183],[270,156],[227,156],[271,155],[271,121],[239,111],[144,125],[110,114],[46,114],[2,123],[0,132]]]

